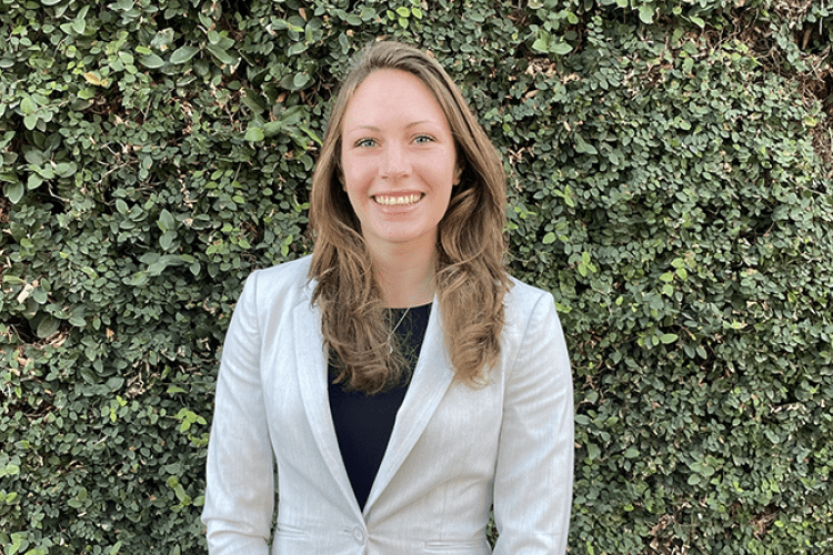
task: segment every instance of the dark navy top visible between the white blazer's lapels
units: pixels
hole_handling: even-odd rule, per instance
[[[413,373],[425,336],[431,304],[407,309],[390,309],[392,322],[402,322],[395,333],[404,346],[405,359]],[[404,317],[403,317],[404,314]],[[335,370],[330,366],[331,375]],[[388,441],[393,431],[397,412],[408,392],[408,382],[375,395],[360,391],[345,391],[342,384],[330,382],[330,411],[355,500],[363,509],[373,480],[382,464]]]

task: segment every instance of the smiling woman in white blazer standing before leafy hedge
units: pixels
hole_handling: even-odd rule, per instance
[[[311,258],[254,272],[223,349],[212,555],[563,554],[566,347],[502,264],[505,176],[430,57],[369,47],[313,176]],[[273,524],[273,475],[280,495]]]

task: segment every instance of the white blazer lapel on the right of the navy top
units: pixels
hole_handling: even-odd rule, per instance
[[[388,448],[364,504],[365,515],[416,444],[453,377],[451,363],[445,357],[440,311],[434,297],[420,359],[416,361],[405,398],[397,413]]]

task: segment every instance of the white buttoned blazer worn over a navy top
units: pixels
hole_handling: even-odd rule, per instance
[[[436,302],[364,509],[328,401],[310,258],[252,273],[225,336],[202,521],[211,555],[562,555],[573,389],[552,295],[513,281],[489,384],[452,383]],[[277,524],[273,523],[275,485]],[[272,536],[273,534],[273,536]]]

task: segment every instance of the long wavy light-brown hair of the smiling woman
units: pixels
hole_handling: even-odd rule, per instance
[[[503,297],[511,286],[503,264],[505,182],[501,158],[442,67],[399,42],[371,43],[341,84],[312,178],[309,278],[335,383],[374,394],[408,377],[402,346],[392,344],[390,311],[375,281],[359,219],[341,184],[344,112],[359,85],[381,69],[407,71],[431,90],[454,137],[461,180],[438,226],[434,286],[445,349],[455,380],[485,383],[500,356]],[[393,340],[395,342],[395,340]]]

